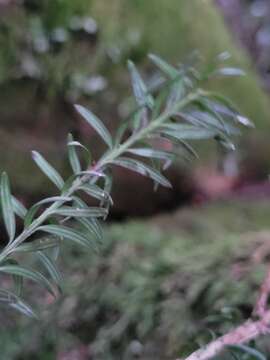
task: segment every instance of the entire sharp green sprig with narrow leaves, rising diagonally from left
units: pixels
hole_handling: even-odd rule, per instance
[[[98,219],[105,219],[112,205],[113,166],[151,178],[155,188],[159,185],[170,187],[160,170],[170,166],[177,153],[194,156],[187,140],[214,138],[232,149],[230,137],[238,134],[234,124],[251,125],[227,99],[199,87],[205,78],[219,73],[234,76],[238,70],[223,67],[199,74],[188,64],[174,67],[156,55],[150,55],[150,60],[160,70],[158,85],[151,91],[135,65],[128,64],[136,108],[120,126],[114,139],[90,110],[76,106],[107,145],[107,151],[97,162],[92,161],[88,149],[74,141],[72,135],[68,136],[67,146],[73,174],[67,180],[41,154],[32,153],[37,166],[58,188],[57,196],[43,199],[26,209],[11,195],[8,176],[2,174],[1,209],[8,240],[0,253],[0,272],[11,276],[14,281],[14,289],[1,289],[3,305],[36,316],[21,297],[26,279],[43,286],[53,296],[61,292],[61,276],[57,269],[59,248],[66,242],[74,242],[92,249],[102,237]],[[127,130],[131,134],[128,135]],[[159,143],[165,141],[170,150],[156,148],[154,141],[157,140]],[[86,154],[83,166],[78,150]],[[84,200],[88,196],[96,199],[96,206],[87,205]],[[24,223],[19,233],[16,232],[16,216]],[[78,229],[77,225],[80,225]],[[23,262],[17,254],[22,253],[38,257],[41,268],[21,265]]]

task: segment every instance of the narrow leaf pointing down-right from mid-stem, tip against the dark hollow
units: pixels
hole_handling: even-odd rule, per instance
[[[138,160],[120,157],[117,160],[112,161],[112,163],[118,166],[122,166],[126,169],[135,171],[141,175],[150,177],[152,180],[158,182],[165,187],[172,187],[170,182],[162,174]]]

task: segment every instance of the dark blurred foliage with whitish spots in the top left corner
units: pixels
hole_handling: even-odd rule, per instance
[[[98,26],[85,1],[28,0],[0,18],[0,85],[37,84],[49,98],[91,93],[89,61]],[[81,57],[74,55],[80,52]],[[87,64],[86,64],[87,63]],[[17,84],[18,85],[18,84]]]

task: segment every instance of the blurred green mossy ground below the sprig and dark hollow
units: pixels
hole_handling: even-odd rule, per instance
[[[270,253],[269,212],[267,202],[213,204],[110,225],[97,254],[64,248],[64,296],[48,307],[35,295],[45,307],[38,324],[6,314],[4,358],[85,348],[95,360],[134,359],[136,345],[140,359],[164,360],[196,348],[207,329],[250,315]]]

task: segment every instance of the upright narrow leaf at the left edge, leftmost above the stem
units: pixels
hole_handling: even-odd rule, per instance
[[[1,207],[5,227],[9,235],[9,243],[14,240],[16,232],[15,215],[10,194],[10,185],[8,175],[4,172],[1,177]]]

